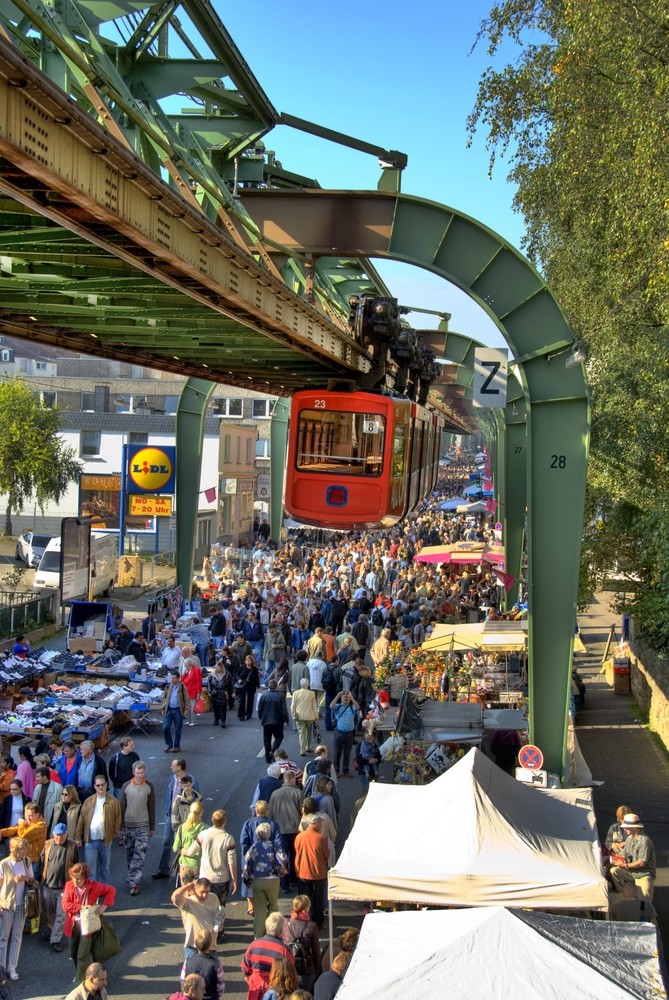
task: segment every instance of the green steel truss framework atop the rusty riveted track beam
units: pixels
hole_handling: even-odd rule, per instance
[[[229,185],[317,183],[284,170],[269,151],[260,157],[259,176],[254,172],[247,177],[247,155],[256,159],[261,137],[281,116],[207,0],[99,4],[59,0],[56,6],[42,0],[3,0],[0,19],[28,58],[88,114],[123,138],[154,172],[182,191],[197,186],[197,201],[206,218],[236,230],[249,253],[257,248],[259,259],[264,250]],[[175,57],[171,49],[177,47]],[[191,58],[183,57],[184,48]],[[196,106],[180,115],[166,113],[161,100],[183,93]],[[302,119],[293,124],[381,155],[380,147]],[[406,161],[403,154],[384,155]],[[360,262],[359,293],[368,287],[364,271]],[[324,304],[331,290],[319,287],[320,282],[316,272],[313,292]],[[299,293],[299,287],[294,290]],[[338,296],[327,310],[345,320],[346,309]]]

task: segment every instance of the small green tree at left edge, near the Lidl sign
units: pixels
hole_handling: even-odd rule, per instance
[[[83,465],[58,435],[54,407],[43,406],[20,378],[0,382],[0,493],[7,497],[5,534],[12,514],[30,500],[44,510],[57,503]]]

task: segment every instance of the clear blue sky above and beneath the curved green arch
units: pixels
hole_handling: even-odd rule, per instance
[[[508,166],[488,176],[485,136],[467,148],[466,119],[481,73],[484,45],[471,53],[492,5],[484,0],[358,0],[335,7],[315,0],[287,7],[267,0],[217,9],[278,111],[408,154],[402,190],[471,215],[520,245],[523,223],[512,211]],[[512,54],[512,53],[511,53]],[[284,167],[326,188],[373,189],[375,157],[279,127],[266,137]],[[375,262],[402,304],[445,309],[450,327],[491,345],[503,343],[464,293],[416,267]],[[436,320],[414,313],[415,326]]]

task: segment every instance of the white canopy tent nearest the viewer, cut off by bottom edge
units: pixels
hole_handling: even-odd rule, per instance
[[[656,1000],[651,924],[501,908],[371,913],[337,1000]]]

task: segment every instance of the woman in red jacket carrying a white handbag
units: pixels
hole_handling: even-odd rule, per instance
[[[75,964],[75,981],[82,982],[91,962],[91,947],[102,926],[101,914],[116,899],[113,885],[90,878],[90,868],[81,862],[72,865],[63,890],[65,936],[70,939],[70,957]]]

